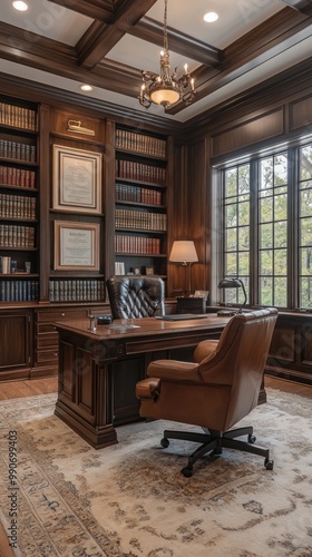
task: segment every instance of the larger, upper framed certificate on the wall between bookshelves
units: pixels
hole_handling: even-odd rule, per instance
[[[101,153],[53,145],[52,208],[101,213]]]

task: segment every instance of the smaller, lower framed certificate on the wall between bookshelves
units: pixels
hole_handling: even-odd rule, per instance
[[[99,224],[55,221],[56,271],[99,271]]]

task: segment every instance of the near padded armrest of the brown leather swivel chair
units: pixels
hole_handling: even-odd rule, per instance
[[[178,360],[156,360],[147,368],[149,378],[169,379],[170,381],[202,382],[198,374],[198,364],[194,362],[179,362]]]

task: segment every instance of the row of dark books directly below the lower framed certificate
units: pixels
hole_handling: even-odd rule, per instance
[[[49,281],[50,302],[99,302],[105,300],[105,284],[99,280]]]

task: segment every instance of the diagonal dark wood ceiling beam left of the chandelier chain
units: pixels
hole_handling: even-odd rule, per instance
[[[92,69],[99,63],[155,2],[156,0],[127,0],[115,12],[111,25],[92,26],[94,32],[87,31],[77,45],[80,66]]]

